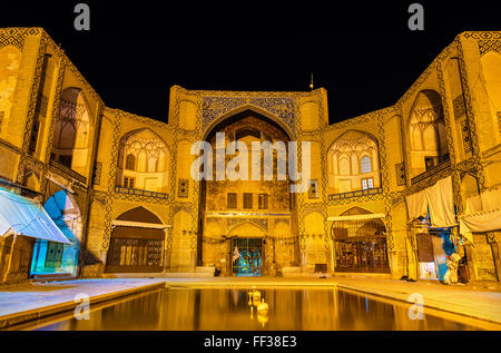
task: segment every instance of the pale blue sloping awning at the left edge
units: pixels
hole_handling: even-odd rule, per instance
[[[0,188],[0,236],[10,232],[71,244],[40,204]]]

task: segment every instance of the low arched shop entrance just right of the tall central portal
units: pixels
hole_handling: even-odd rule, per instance
[[[380,216],[353,207],[334,217],[331,236],[336,272],[390,273],[385,226]]]

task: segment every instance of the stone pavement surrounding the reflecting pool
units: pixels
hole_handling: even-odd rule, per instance
[[[353,275],[312,277],[157,277],[96,278],[22,284],[0,287],[0,329],[42,315],[72,310],[75,297],[86,293],[91,303],[112,300],[160,286],[189,287],[340,287],[409,303],[413,293],[423,296],[426,310],[440,310],[501,324],[499,286],[446,286],[430,282],[404,282],[384,277]],[[2,324],[3,323],[3,324]]]

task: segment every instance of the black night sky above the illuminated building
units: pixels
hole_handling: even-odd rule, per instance
[[[90,6],[90,31],[73,29]],[[424,6],[424,31],[407,28]],[[495,1],[18,1],[0,27],[43,27],[111,108],[167,120],[169,87],[328,91],[331,122],[393,105],[464,30],[500,30]],[[272,7],[273,3],[273,7]]]

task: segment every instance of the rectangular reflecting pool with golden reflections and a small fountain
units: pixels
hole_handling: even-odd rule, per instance
[[[499,330],[479,320],[330,288],[169,287],[14,330],[42,331],[394,331]],[[410,312],[414,314],[410,314]],[[414,320],[412,318],[414,317]]]

